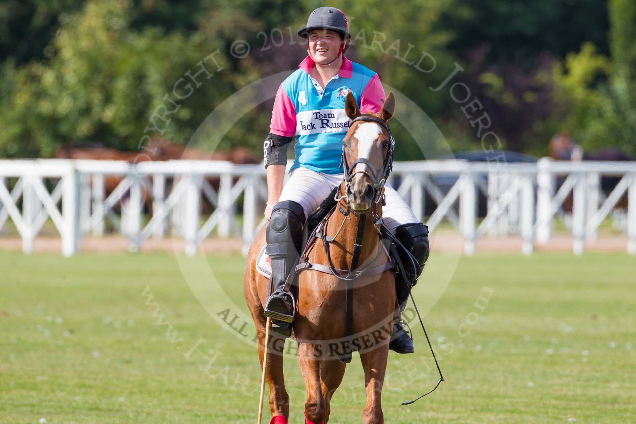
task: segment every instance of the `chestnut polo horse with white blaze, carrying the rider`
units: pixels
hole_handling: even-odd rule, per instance
[[[393,142],[387,121],[394,109],[393,93],[389,93],[379,114],[361,114],[352,93],[347,95],[345,112],[351,123],[343,139],[345,173],[336,195],[338,205],[326,221],[319,224],[316,233],[321,236],[308,245],[301,256],[301,265],[296,268],[300,273],[291,337],[298,343],[298,363],[307,389],[305,416],[308,422],[329,420],[329,402],[345,373],[345,364],[337,355],[350,353],[352,349],[359,350],[364,368],[367,399],[364,423],[384,422],[381,395],[392,332],[395,281],[378,223],[384,181],[391,169]],[[256,272],[255,263],[264,244],[265,228],[256,236],[247,254],[244,276],[245,301],[256,326],[261,367],[266,331],[263,312],[270,284]],[[307,263],[310,265],[303,268]],[[368,270],[371,271],[366,273]],[[345,302],[347,271],[349,277],[354,276],[355,283],[352,283],[352,296]],[[352,305],[349,325],[345,303]],[[358,337],[357,346],[356,339],[351,337],[354,334]],[[276,340],[273,342],[270,346],[277,344]],[[280,346],[280,339],[278,342]],[[270,352],[267,360],[272,422],[287,423],[289,396],[285,389],[282,353]]]

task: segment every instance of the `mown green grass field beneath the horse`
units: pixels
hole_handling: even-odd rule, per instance
[[[167,254],[0,253],[0,423],[255,423],[256,350],[214,313],[228,301],[247,311],[244,259],[207,261],[218,284],[205,267]],[[452,257],[429,262],[415,290],[422,304],[438,276],[454,271],[424,308],[446,381],[400,405],[438,380],[426,372],[430,352],[416,330],[415,354],[389,354],[385,422],[636,421],[633,257],[481,255],[461,257],[456,269]],[[211,285],[228,299],[206,291]],[[286,382],[290,423],[302,423],[293,359]],[[364,402],[356,354],[330,423],[361,422]]]

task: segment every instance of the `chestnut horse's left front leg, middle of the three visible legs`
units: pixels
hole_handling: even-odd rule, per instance
[[[312,423],[324,423],[327,414],[327,401],[322,394],[321,352],[312,343],[298,344],[298,364],[305,380],[307,399],[305,417]]]

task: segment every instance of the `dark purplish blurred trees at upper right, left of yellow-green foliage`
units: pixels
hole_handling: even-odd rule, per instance
[[[597,0],[453,0],[438,25],[455,30],[448,48],[467,62],[458,77],[481,100],[504,147],[541,155],[560,111],[555,60],[584,41],[607,51],[609,24],[607,5]],[[466,121],[457,125],[471,129]]]

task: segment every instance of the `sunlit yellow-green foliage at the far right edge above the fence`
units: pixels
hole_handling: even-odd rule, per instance
[[[555,68],[557,100],[567,110],[562,129],[586,150],[615,146],[636,153],[636,4],[612,0],[611,58],[593,44]]]

